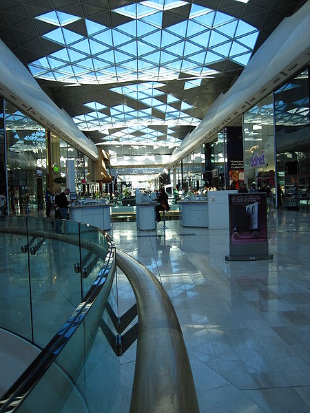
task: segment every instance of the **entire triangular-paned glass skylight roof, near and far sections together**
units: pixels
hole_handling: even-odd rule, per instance
[[[189,17],[166,27],[163,17],[167,10],[178,16],[187,10]],[[210,67],[213,63],[230,60],[247,65],[259,34],[257,28],[236,17],[187,1],[145,0],[111,13],[130,21],[110,28],[59,11],[36,18],[56,26],[42,37],[61,49],[28,65],[34,77],[70,86],[115,84],[109,90],[125,96],[121,100],[112,96],[109,107],[103,104],[105,99],[103,103],[84,103],[90,112],[76,116],[74,122],[85,131],[106,134],[108,129],[120,127],[198,125],[200,119],[194,114],[199,109],[201,117],[203,109],[192,106],[196,92],[191,89],[200,87],[203,78],[219,74]],[[178,97],[173,88],[167,89],[167,82],[176,80],[181,85]],[[176,142],[169,134],[143,134],[141,138],[126,131],[110,136],[110,141],[141,143],[164,138],[165,145]]]

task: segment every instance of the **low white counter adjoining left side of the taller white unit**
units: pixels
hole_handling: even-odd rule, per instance
[[[182,209],[182,226],[209,226],[207,200],[183,200],[178,204]]]

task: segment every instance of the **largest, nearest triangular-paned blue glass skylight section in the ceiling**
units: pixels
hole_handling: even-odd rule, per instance
[[[163,10],[182,8],[184,1],[143,1],[113,10],[132,21],[107,28],[84,19],[88,36],[63,26],[81,20],[63,12],[37,19],[59,26],[43,38],[63,50],[30,63],[34,77],[71,84],[168,81],[180,72],[203,77],[216,73],[208,65],[229,59],[247,65],[258,29],[242,20],[192,4],[189,19],[163,28]]]

